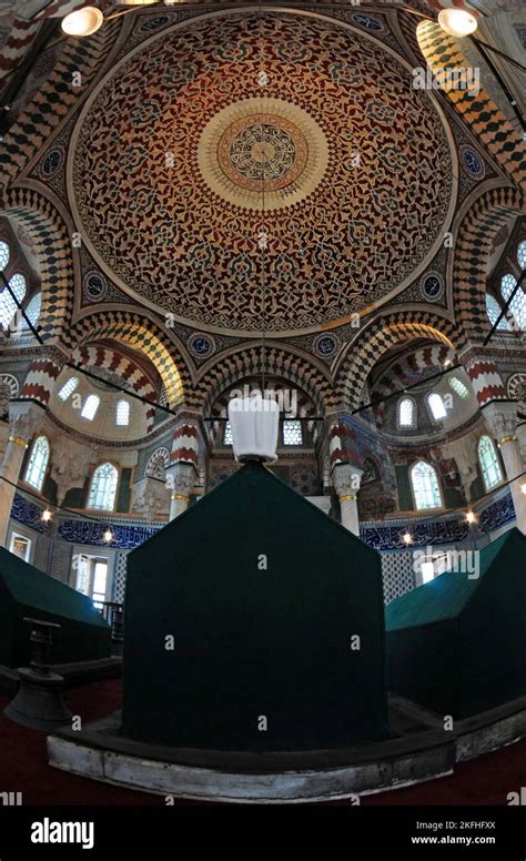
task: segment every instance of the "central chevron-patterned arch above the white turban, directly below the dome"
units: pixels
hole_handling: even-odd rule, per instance
[[[263,371],[262,348],[253,346],[227,356],[212,367],[192,392],[192,406],[209,414],[219,395],[233,383],[253,377]],[[334,406],[335,396],[330,379],[306,358],[277,346],[269,346],[265,353],[265,373],[295,383],[311,397],[320,415]]]

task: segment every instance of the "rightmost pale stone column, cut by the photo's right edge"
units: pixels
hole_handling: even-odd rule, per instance
[[[526,478],[518,478],[524,472],[524,462],[516,433],[517,406],[513,401],[493,402],[483,407],[483,413],[500,449],[506,478],[510,482],[517,528],[526,535],[526,495],[520,489]]]

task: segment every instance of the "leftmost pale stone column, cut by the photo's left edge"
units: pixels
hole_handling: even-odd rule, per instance
[[[16,493],[14,485],[18,482],[23,456],[34,433],[39,415],[40,407],[34,404],[23,401],[10,404],[10,430],[0,469],[0,545],[2,547],[6,547],[8,537],[9,518]],[[3,480],[4,478],[7,480]]]

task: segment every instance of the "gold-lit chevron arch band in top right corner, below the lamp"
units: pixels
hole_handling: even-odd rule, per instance
[[[433,72],[442,69],[465,69],[469,65],[458,42],[432,21],[418,28],[421,51]],[[446,89],[447,98],[472,126],[476,136],[493,153],[500,166],[520,183],[526,178],[526,148],[517,131],[489,98],[484,88],[477,95],[467,90]]]

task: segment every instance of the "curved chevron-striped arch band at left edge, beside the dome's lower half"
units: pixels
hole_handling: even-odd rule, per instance
[[[71,239],[54,206],[32,189],[12,189],[6,214],[27,227],[40,262],[42,284],[41,335],[58,338],[73,310],[73,260]]]

